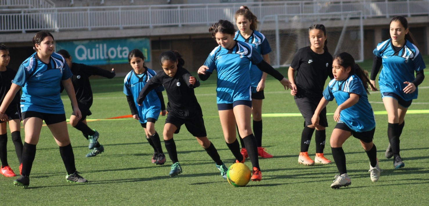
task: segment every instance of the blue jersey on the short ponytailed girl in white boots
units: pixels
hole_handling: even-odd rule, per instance
[[[350,129],[356,132],[365,132],[374,129],[375,117],[371,104],[368,102],[366,89],[362,81],[355,75],[349,76],[346,80],[337,81],[332,79],[323,91],[326,100],[336,100],[337,105],[344,103],[350,98],[350,93],[358,94],[359,101],[344,109],[340,113],[340,121],[347,124]]]

